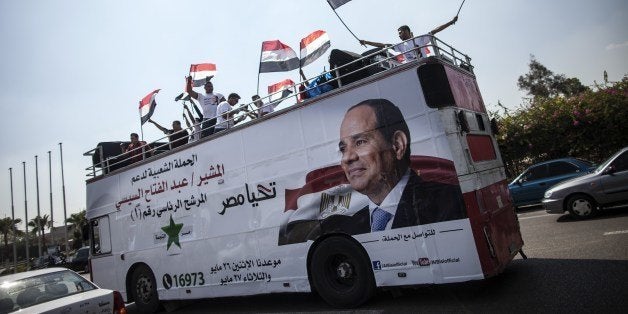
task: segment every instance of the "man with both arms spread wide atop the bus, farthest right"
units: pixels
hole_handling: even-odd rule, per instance
[[[445,28],[456,24],[456,21],[458,21],[458,16],[455,16],[451,21],[431,30],[429,33],[427,33],[428,35],[435,35],[436,33],[444,30]],[[417,47],[425,47],[426,45],[430,45],[430,38],[429,37],[423,37],[423,36],[419,36],[417,38],[414,38],[414,34],[412,33],[412,31],[410,30],[410,27],[408,25],[402,25],[397,29],[397,33],[399,34],[399,39],[403,40],[402,43],[397,44],[393,47],[393,50],[395,50],[396,52],[403,54],[404,58],[403,61],[404,62],[408,62],[411,60],[414,60],[417,58],[417,55],[419,58],[421,58],[422,56],[424,56],[421,51],[419,51],[417,49]],[[412,39],[414,38],[414,39]],[[412,40],[410,40],[412,39]],[[378,47],[378,48],[384,48],[384,47],[390,47],[392,46],[392,44],[383,44],[383,43],[378,43],[378,42],[373,42],[373,41],[368,41],[368,40],[364,40],[361,39],[360,40],[360,44],[362,45],[370,45],[373,47]],[[423,49],[429,49],[429,48],[423,48]],[[427,52],[427,51],[426,51]],[[427,53],[426,53],[427,55]]]

